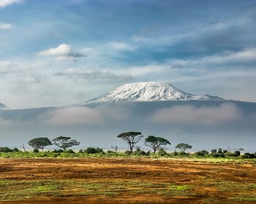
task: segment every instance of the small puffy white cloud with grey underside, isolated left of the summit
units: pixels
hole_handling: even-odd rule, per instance
[[[78,60],[78,58],[86,57],[83,53],[72,50],[69,44],[60,44],[58,47],[42,50],[38,55],[54,57],[56,60]]]

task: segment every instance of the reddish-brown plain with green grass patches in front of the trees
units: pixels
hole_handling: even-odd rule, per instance
[[[256,203],[256,161],[1,158],[0,203]]]

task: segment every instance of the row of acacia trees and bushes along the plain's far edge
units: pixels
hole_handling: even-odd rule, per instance
[[[166,155],[167,152],[165,152],[165,149],[167,145],[171,145],[170,141],[167,141],[167,139],[157,136],[148,136],[144,140],[144,145],[150,147],[151,151],[144,152],[140,150],[140,146],[136,146],[138,142],[143,138],[143,135],[141,132],[135,132],[130,131],[126,133],[121,133],[117,136],[117,138],[121,138],[128,146],[129,150],[127,150],[126,154],[136,154],[136,155],[148,155],[150,152],[153,154],[156,154],[158,152],[159,155]],[[39,152],[39,149],[43,150],[46,146],[55,145],[59,147],[59,150],[53,150],[53,152],[69,152],[73,153],[71,148],[72,146],[78,146],[80,145],[79,141],[76,141],[70,137],[67,136],[59,136],[57,138],[53,138],[53,140],[50,141],[47,137],[42,138],[33,138],[28,142],[29,146],[33,148],[33,152]],[[26,152],[25,146],[20,146],[23,148],[24,152]],[[117,153],[118,152],[118,146],[111,146],[113,151],[108,151],[108,153]],[[186,150],[192,149],[192,145],[180,143],[175,146],[176,149],[180,149],[180,152],[173,152],[173,155],[176,156],[182,156],[182,155],[189,155]],[[136,149],[136,151],[134,151]],[[9,149],[7,147],[0,147],[0,152],[18,152],[19,149]],[[244,149],[234,149],[233,152],[230,148],[222,150],[219,149],[211,149],[211,152],[208,152],[206,150],[202,150],[199,152],[195,152],[196,156],[206,157],[208,154],[211,154],[212,157],[238,157],[241,155],[241,151],[244,151]],[[96,153],[104,153],[103,149],[99,148],[93,148],[89,147],[85,149],[84,151],[80,149],[80,153],[86,153],[86,154],[96,154]],[[245,158],[255,158],[255,154],[245,153],[243,155]]]

